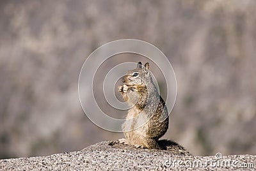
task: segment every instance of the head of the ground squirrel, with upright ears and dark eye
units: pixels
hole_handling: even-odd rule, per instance
[[[149,64],[146,63],[144,66],[139,62],[137,68],[134,70],[127,71],[126,75],[123,77],[123,82],[126,85],[143,85],[152,82]]]

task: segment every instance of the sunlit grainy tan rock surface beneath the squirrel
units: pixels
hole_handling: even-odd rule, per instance
[[[166,140],[163,142],[166,144]],[[170,141],[166,150],[134,149],[129,145],[108,144],[104,141],[82,151],[0,160],[0,170],[170,170],[173,167],[177,170],[227,170],[234,167],[255,170],[256,156],[252,155],[186,156],[189,153],[184,148]],[[180,149],[180,155],[175,155],[177,150],[173,151],[172,148]]]

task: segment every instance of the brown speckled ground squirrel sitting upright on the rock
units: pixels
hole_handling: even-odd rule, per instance
[[[125,138],[111,143],[160,149],[157,140],[168,129],[168,111],[152,81],[149,64],[139,62],[122,80],[124,85],[118,86],[118,91],[131,108],[122,125]]]

